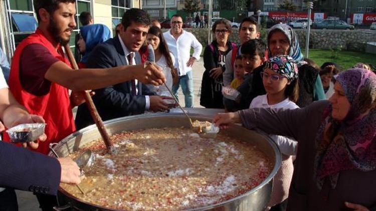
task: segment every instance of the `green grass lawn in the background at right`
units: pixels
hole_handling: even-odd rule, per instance
[[[302,50],[302,53],[305,56],[304,50]],[[314,60],[319,66],[326,61],[333,61],[344,69],[353,66],[357,62],[370,63],[376,66],[375,54],[345,50],[337,51],[335,58],[332,57],[332,54],[330,49],[309,49],[308,58]]]

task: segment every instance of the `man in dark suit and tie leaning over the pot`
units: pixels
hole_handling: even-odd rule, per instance
[[[105,68],[140,63],[138,50],[146,39],[150,19],[138,8],[128,9],[122,17],[119,34],[97,45],[91,52],[86,65],[89,68]],[[93,101],[103,120],[143,113],[146,110],[168,109],[164,98],[151,92],[137,80],[126,81],[105,88],[96,89]],[[94,121],[86,105],[80,105],[76,115],[77,129]]]

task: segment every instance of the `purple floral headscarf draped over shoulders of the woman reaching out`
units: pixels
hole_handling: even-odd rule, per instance
[[[376,74],[351,68],[338,74],[350,109],[342,121],[333,119],[331,106],[324,111],[324,121],[316,136],[314,163],[317,186],[325,178],[335,188],[342,170],[376,169]]]

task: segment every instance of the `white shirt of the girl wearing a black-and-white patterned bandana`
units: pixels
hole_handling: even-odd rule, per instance
[[[267,94],[260,95],[255,97],[249,108],[255,108],[255,107],[261,107],[261,108],[285,108],[285,109],[295,109],[299,108],[298,105],[296,105],[293,101],[291,101],[289,98],[286,98],[285,100],[278,102],[277,104],[270,105],[268,103]],[[291,137],[282,136],[282,135],[269,135],[274,142],[278,145],[279,150],[282,154],[286,155],[296,155],[296,152],[298,150],[298,142]]]

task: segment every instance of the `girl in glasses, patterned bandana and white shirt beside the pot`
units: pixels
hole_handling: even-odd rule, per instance
[[[266,94],[255,97],[249,108],[298,108],[298,66],[291,56],[277,55],[268,59],[261,73]],[[268,209],[286,200],[294,166],[292,155],[296,155],[297,142],[293,138],[270,135],[278,145],[282,162],[273,180],[272,196]]]

